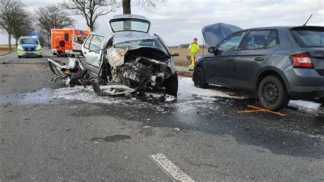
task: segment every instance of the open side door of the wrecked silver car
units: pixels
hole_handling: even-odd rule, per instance
[[[87,63],[87,68],[90,74],[98,76],[101,66],[101,53],[103,52],[103,42],[105,36],[91,34],[85,40],[82,47],[82,53]]]

